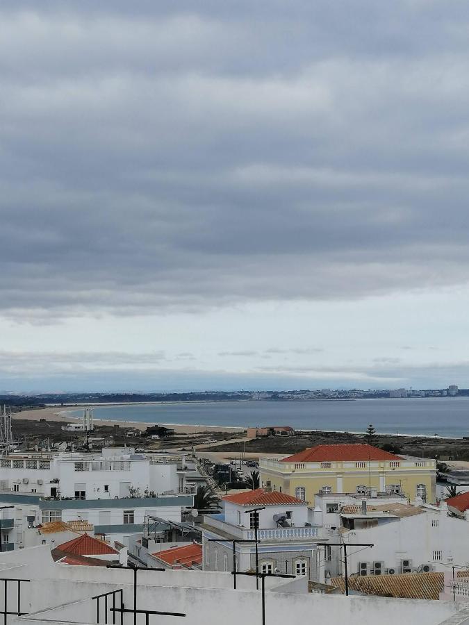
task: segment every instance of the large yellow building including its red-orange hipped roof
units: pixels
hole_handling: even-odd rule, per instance
[[[262,458],[261,483],[314,503],[316,493],[403,494],[436,501],[436,462],[401,458],[367,444],[318,445],[294,456]]]

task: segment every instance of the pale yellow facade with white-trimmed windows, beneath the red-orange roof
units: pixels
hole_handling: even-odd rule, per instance
[[[427,459],[365,462],[281,462],[261,459],[261,484],[314,503],[322,492],[400,492],[410,501],[436,501],[436,462]],[[304,490],[302,490],[304,489]]]

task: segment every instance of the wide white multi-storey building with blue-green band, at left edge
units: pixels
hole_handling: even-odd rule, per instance
[[[126,544],[145,515],[181,522],[197,476],[185,454],[133,449],[102,453],[12,453],[0,459],[0,535],[4,549],[31,544],[31,529],[51,521],[83,521],[94,533]],[[26,537],[25,532],[28,532]]]

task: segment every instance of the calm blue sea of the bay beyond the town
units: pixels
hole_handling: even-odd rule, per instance
[[[95,419],[206,426],[286,425],[295,429],[469,435],[469,398],[356,399],[351,401],[216,401],[94,406]],[[81,416],[83,410],[70,410]]]

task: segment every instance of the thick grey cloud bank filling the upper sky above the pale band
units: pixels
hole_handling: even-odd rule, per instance
[[[468,7],[96,5],[0,8],[4,314],[468,281]]]

